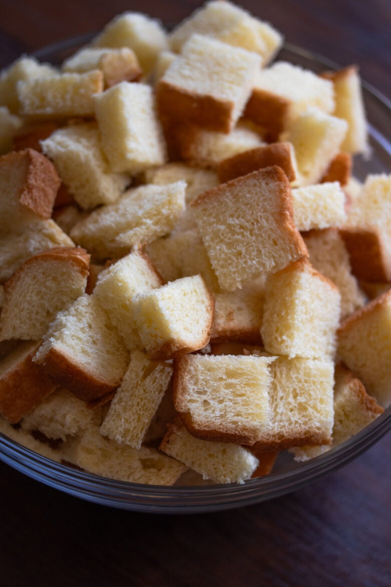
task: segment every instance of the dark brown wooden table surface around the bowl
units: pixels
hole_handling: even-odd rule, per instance
[[[97,30],[125,9],[176,21],[200,4],[0,0],[0,66]],[[391,95],[390,0],[247,0],[287,41]],[[2,587],[389,587],[391,436],[293,494],[204,515],[135,514],[90,504],[0,463]]]

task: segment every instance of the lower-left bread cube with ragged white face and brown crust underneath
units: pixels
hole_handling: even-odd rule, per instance
[[[118,387],[128,351],[97,298],[84,294],[57,314],[34,360],[76,397],[89,401]]]

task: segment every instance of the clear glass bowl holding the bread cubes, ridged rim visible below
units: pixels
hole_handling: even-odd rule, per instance
[[[69,39],[39,50],[34,55],[40,60],[60,63],[79,46],[90,41],[92,36]],[[314,72],[340,69],[334,62],[288,44],[285,44],[278,59],[301,65]],[[366,83],[363,83],[363,95],[369,120],[372,155],[370,158],[355,157],[354,174],[360,180],[368,173],[391,170],[391,102]],[[0,459],[50,487],[98,504],[149,513],[208,512],[250,505],[300,489],[349,463],[390,428],[391,406],[372,424],[327,453],[306,463],[295,463],[293,457],[283,451],[277,458],[273,473],[250,479],[243,485],[165,487],[115,481],[55,463],[1,433]]]

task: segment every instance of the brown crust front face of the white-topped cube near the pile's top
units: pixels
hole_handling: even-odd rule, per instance
[[[170,119],[174,125],[179,121],[223,133],[232,130],[233,102],[186,92],[165,80],[158,83],[157,107],[159,117]]]

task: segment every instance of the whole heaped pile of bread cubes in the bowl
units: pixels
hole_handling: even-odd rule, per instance
[[[103,477],[244,483],[391,403],[391,176],[358,70],[226,1],[0,77],[0,431]],[[209,480],[209,481],[203,481]]]

